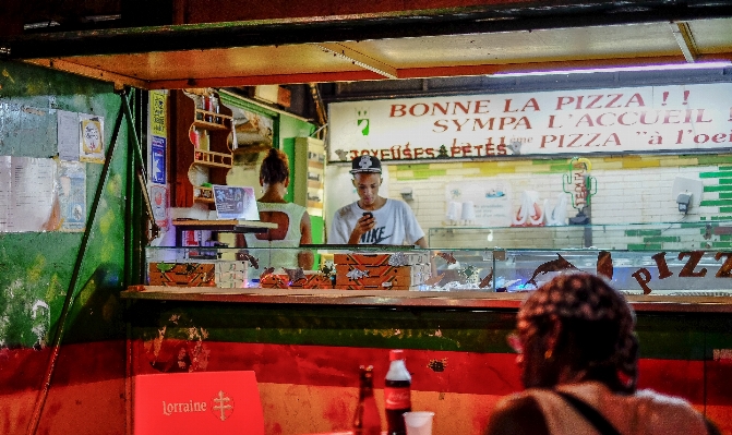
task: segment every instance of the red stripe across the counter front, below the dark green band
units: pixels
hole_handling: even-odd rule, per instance
[[[142,355],[137,373],[157,373],[145,357],[144,345],[136,342],[135,349]],[[512,353],[405,352],[416,390],[503,396],[521,389],[516,355]],[[277,384],[351,387],[358,379],[358,366],[372,364],[376,373],[374,386],[383,388],[382,376],[388,368],[388,349],[377,348],[205,341],[201,353],[207,358],[205,370],[252,370],[260,382]],[[163,360],[158,355],[158,366],[171,366]],[[704,404],[704,362],[641,360],[639,388]]]

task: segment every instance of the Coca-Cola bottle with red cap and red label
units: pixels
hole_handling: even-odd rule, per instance
[[[404,413],[411,411],[411,375],[404,363],[404,351],[392,350],[384,382],[384,408],[386,409],[386,433],[405,435]]]

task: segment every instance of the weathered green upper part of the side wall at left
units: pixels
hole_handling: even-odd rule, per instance
[[[43,108],[51,116],[56,109],[103,116],[105,144],[108,149],[112,128],[121,109],[121,99],[113,93],[110,84],[21,63],[0,63],[0,68],[2,104]],[[55,122],[55,116],[49,118]],[[3,137],[0,155],[53,157],[57,144],[56,125],[37,125],[28,121],[23,123],[23,129],[33,132],[34,140],[27,140],[25,132],[11,132]],[[43,129],[44,134],[38,132],[39,129]],[[97,210],[97,221],[87,222],[94,229],[80,274],[80,285],[74,289],[76,298],[70,318],[72,325],[82,315],[81,307],[89,303],[98,291],[109,292],[112,288],[119,290],[123,285],[121,280],[124,270],[128,162],[125,125],[121,129],[104,197]],[[93,202],[101,169],[101,165],[86,164],[87,207]],[[81,239],[81,232],[0,233],[0,265],[3,269],[0,274],[0,313],[4,312],[8,318],[0,326],[0,340],[4,345],[34,345],[36,337],[31,331],[34,322],[29,318],[29,310],[35,301],[48,303],[51,318],[56,322],[69,290]],[[109,338],[107,330],[91,330],[96,331],[100,339]],[[113,333],[118,338],[124,337],[121,328]],[[74,339],[73,334],[69,335],[69,339]]]

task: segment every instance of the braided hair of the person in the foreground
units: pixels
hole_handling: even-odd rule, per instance
[[[614,390],[635,391],[635,313],[621,292],[591,274],[556,276],[524,302],[518,323],[541,335],[552,317],[562,324],[557,346],[569,348],[574,370],[586,371],[587,379],[605,382]]]

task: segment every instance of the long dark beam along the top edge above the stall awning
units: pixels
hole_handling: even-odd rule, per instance
[[[369,16],[229,22],[10,36],[0,38],[0,56],[5,59],[38,59],[203,50],[732,16],[732,0],[533,4],[520,8],[463,8]]]

